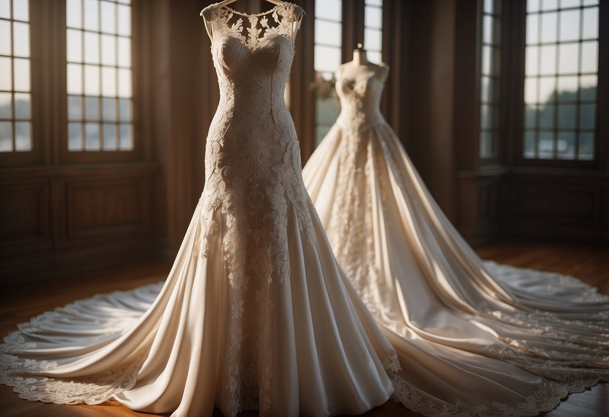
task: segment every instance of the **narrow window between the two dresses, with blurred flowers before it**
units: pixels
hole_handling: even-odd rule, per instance
[[[315,0],[315,145],[326,136],[339,116],[334,95],[334,72],[341,64],[342,1]]]

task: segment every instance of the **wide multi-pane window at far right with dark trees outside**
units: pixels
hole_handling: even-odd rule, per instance
[[[528,0],[525,159],[593,160],[599,55],[597,0]]]

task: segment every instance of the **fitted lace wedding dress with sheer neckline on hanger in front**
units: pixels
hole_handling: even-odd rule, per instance
[[[30,400],[113,398],[175,417],[214,405],[227,416],[359,414],[387,401],[395,351],[337,266],[302,182],[283,99],[294,7],[212,6],[221,97],[205,188],[166,282],[19,325],[1,346],[2,384]]]

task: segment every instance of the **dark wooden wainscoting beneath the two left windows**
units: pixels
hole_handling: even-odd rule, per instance
[[[0,175],[0,275],[23,284],[152,249],[156,165],[15,169]]]

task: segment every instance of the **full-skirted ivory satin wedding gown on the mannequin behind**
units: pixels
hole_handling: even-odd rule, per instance
[[[572,277],[481,261],[383,119],[382,90],[339,69],[342,111],[303,179],[339,263],[398,351],[404,404],[429,416],[535,415],[607,379],[609,297]],[[526,397],[520,410],[493,402],[508,392]]]

